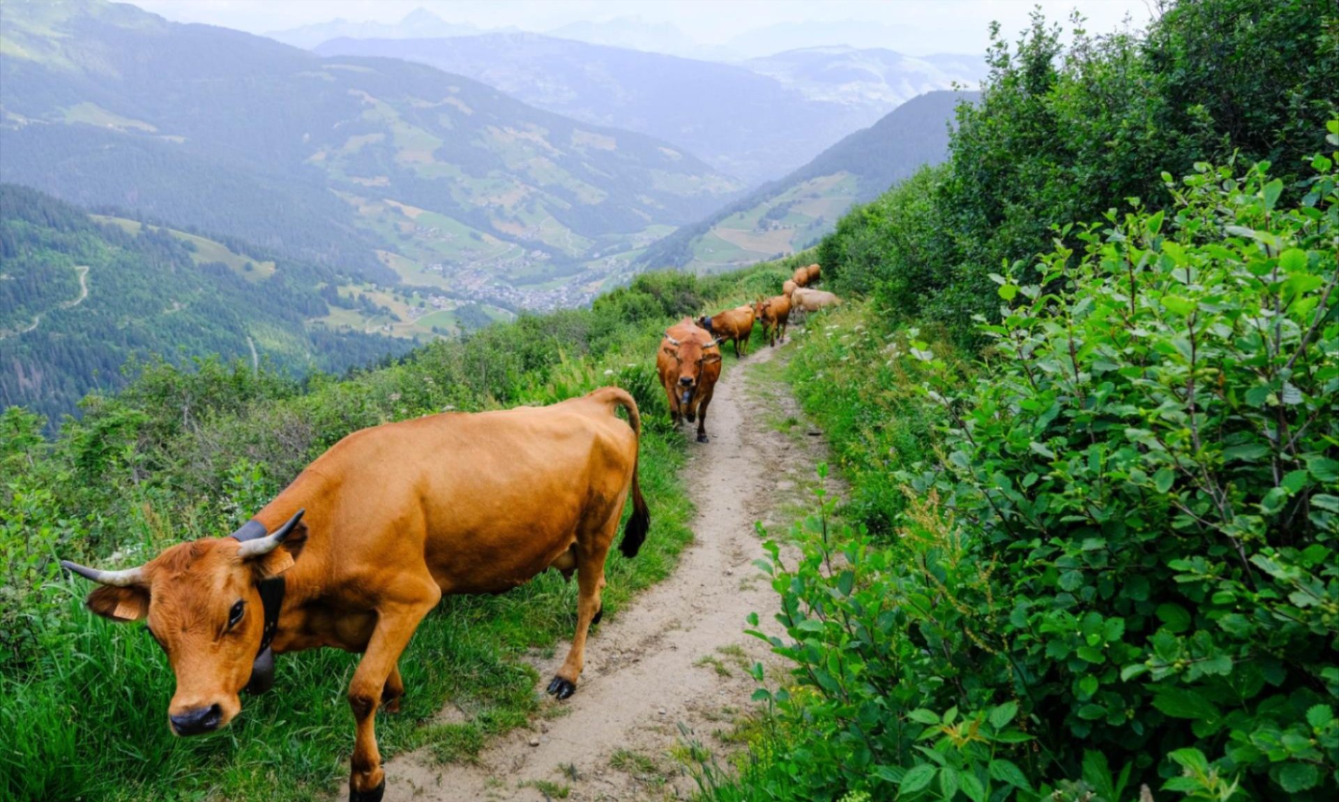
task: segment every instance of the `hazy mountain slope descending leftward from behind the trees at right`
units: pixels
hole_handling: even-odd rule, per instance
[[[955,108],[975,96],[929,92],[915,98],[790,175],[676,230],[639,261],[711,272],[809,248],[852,205],[873,199],[923,165],[943,161]]]

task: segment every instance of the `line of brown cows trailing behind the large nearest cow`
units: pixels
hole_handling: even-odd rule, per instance
[[[698,442],[707,442],[707,407],[720,379],[720,344],[731,341],[735,356],[746,356],[755,325],[762,325],[769,345],[785,341],[791,312],[814,312],[841,303],[830,292],[810,288],[821,277],[822,268],[818,265],[795,268],[778,296],[703,315],[698,320],[684,317],[665,329],[656,353],[656,370],[670,399],[670,416],[675,426],[680,419],[688,423],[696,420]]]

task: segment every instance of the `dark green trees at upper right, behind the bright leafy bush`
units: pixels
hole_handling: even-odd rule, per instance
[[[1052,226],[1127,197],[1162,206],[1160,171],[1233,154],[1271,161],[1288,187],[1339,114],[1339,16],[1326,0],[1185,0],[1144,35],[1073,28],[1069,47],[1039,13],[1014,47],[995,31],[948,162],[854,210],[819,246],[838,292],[874,291],[902,319],[979,345],[973,316],[995,315],[988,273],[1031,265]]]

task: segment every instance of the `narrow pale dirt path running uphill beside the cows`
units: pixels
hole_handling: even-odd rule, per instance
[[[595,631],[577,694],[548,703],[564,715],[502,738],[475,765],[435,766],[426,752],[396,758],[386,766],[387,802],[541,801],[561,789],[572,801],[686,797],[694,782],[671,756],[683,728],[718,755],[730,751],[722,735],[754,704],[757,683],[743,667],[778,667],[743,633],[750,612],[777,629],[777,596],[753,565],[763,556],[754,522],[789,526],[787,511],[805,503],[823,454],[771,376],[777,356],[765,347],[726,366],[707,422],[711,443],[688,445],[696,540],[674,576]],[[537,660],[540,676],[565,652],[561,644],[553,659]]]

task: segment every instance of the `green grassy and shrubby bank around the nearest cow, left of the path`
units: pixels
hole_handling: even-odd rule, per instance
[[[341,380],[295,382],[217,359],[150,366],[122,392],[91,399],[56,439],[19,407],[0,414],[0,795],[328,798],[347,775],[344,692],[356,655],[285,655],[280,692],[248,699],[225,735],[174,738],[162,714],[170,672],[153,639],[142,625],[108,625],[84,611],[87,588],[60,577],[52,556],[121,564],[230,532],[358,428],[442,410],[546,404],[611,383],[629,390],[643,411],[652,528],[635,560],[611,558],[604,604],[616,616],[691,540],[678,479],[683,439],[667,423],[655,374],[660,333],[720,299],[777,287],[783,273],[647,274],[593,309],[438,340]],[[469,759],[524,724],[540,710],[538,677],[524,657],[568,636],[574,615],[574,585],[557,574],[503,596],[445,600],[402,660],[410,692],[402,714],[378,722],[383,754],[431,747],[443,760]],[[442,723],[447,700],[469,720]]]

